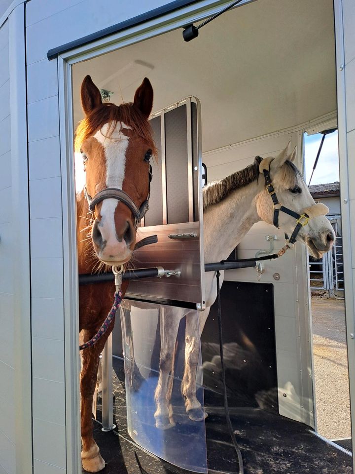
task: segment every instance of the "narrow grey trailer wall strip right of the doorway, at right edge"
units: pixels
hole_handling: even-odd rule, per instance
[[[334,0],[340,202],[353,449],[355,448],[355,4]],[[354,469],[355,469],[355,460]]]

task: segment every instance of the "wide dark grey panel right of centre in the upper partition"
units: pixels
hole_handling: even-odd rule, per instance
[[[165,114],[168,224],[189,222],[186,105]]]

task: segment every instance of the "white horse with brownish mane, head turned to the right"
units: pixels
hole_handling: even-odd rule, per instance
[[[308,247],[311,255],[320,258],[334,242],[334,232],[325,214],[329,209],[316,204],[300,172],[292,163],[296,148],[290,152],[290,143],[277,157],[255,158],[253,164],[221,181],[208,184],[203,190],[205,262],[225,260],[251,226],[259,221],[274,222],[274,205],[265,186],[266,170],[271,178],[276,196],[283,206],[298,214],[307,213],[310,220],[300,228],[297,240]],[[270,188],[269,188],[270,191]],[[276,205],[276,208],[280,207]],[[303,221],[304,223],[306,221]],[[288,235],[296,226],[296,219],[279,213],[278,226]],[[155,390],[157,428],[174,426],[170,404],[174,350],[180,319],[186,316],[185,368],[181,393],[191,420],[201,421],[205,413],[196,398],[196,370],[199,360],[200,336],[216,296],[215,272],[205,273],[206,309],[196,312],[175,307],[161,307],[161,353],[158,385]],[[221,272],[220,283],[223,282]]]

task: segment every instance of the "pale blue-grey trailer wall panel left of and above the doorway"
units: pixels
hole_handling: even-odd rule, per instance
[[[66,472],[65,413],[62,406],[65,384],[62,369],[56,363],[59,361],[59,365],[64,367],[63,244],[60,225],[62,177],[57,61],[48,61],[46,54],[50,48],[93,34],[165,3],[164,0],[133,0],[128,3],[108,0],[105,12],[98,7],[96,0],[31,0],[26,4],[30,237],[33,251],[34,474]],[[4,149],[2,152],[6,151]],[[50,239],[50,245],[48,236],[55,236]],[[51,318],[55,318],[53,326],[45,321],[51,306],[54,308],[51,315]],[[58,367],[57,375],[54,366],[51,371],[46,371],[46,352],[41,351],[41,348],[50,349],[51,360]],[[53,389],[53,384],[56,384],[57,390]],[[50,410],[53,405],[62,407],[55,416]],[[47,433],[45,439],[43,432]],[[48,449],[45,448],[45,442]],[[51,446],[56,446],[56,451]]]

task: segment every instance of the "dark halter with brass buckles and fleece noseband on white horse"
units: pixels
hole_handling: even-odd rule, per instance
[[[281,202],[279,202],[279,199],[276,196],[275,188],[274,188],[274,185],[272,184],[271,177],[270,177],[270,169],[263,169],[263,173],[265,177],[265,188],[267,192],[269,193],[269,196],[273,200],[274,226],[279,229],[280,211],[296,219],[296,227],[294,228],[291,234],[291,237],[288,237],[288,235],[285,233],[286,245],[279,252],[279,254],[283,255],[284,252],[287,250],[287,248],[290,248],[289,244],[294,244],[296,242],[298,233],[302,229],[302,227],[306,226],[308,224],[308,221],[312,219],[313,217],[324,216],[325,214],[329,212],[329,209],[327,208],[327,206],[325,206],[324,204],[320,202],[318,204],[313,204],[312,206],[307,207],[306,209],[304,209],[302,214],[298,214],[298,212],[288,209],[288,207],[283,206]]]

